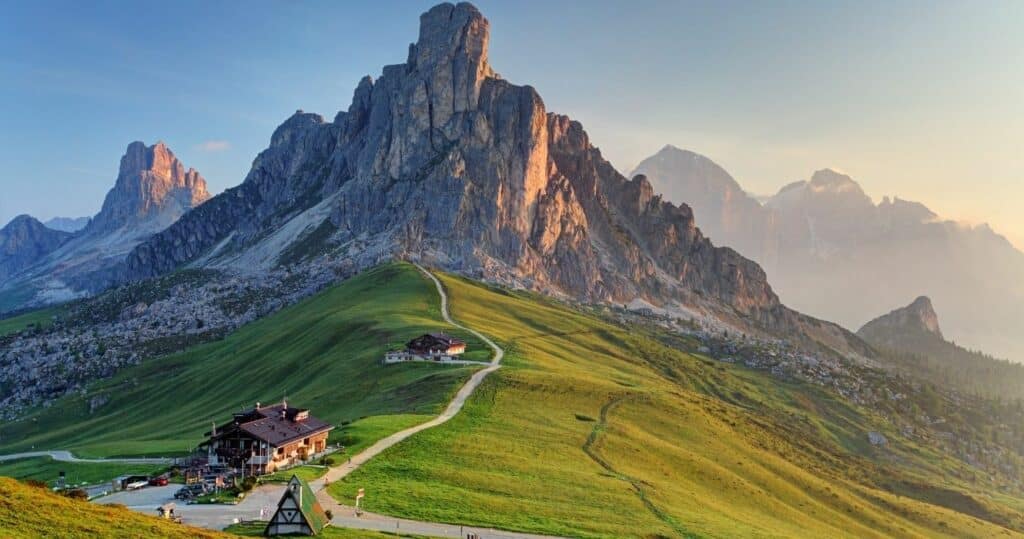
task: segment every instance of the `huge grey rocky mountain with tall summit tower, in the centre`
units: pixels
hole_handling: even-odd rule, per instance
[[[360,264],[413,257],[587,300],[797,325],[764,272],[713,246],[689,207],[622,176],[583,126],[498,76],[488,31],[467,3],[424,13],[404,64],[361,80],[333,121],[288,119],[241,185],[139,245],[126,277],[272,264],[327,225]]]

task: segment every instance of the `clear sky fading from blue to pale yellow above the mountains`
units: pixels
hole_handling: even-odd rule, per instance
[[[404,60],[432,2],[19,2],[0,222],[98,211],[132,140],[219,193],[298,109]],[[1024,2],[479,1],[490,63],[628,171],[665,144],[768,195],[831,167],[1024,246]]]

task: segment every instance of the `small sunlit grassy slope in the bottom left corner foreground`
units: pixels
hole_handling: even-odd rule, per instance
[[[229,539],[233,535],[174,524],[125,507],[96,505],[0,478],[0,537]]]

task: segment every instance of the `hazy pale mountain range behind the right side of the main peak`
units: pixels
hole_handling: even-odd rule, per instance
[[[1024,253],[987,225],[940,218],[924,205],[876,204],[835,170],[782,188],[763,204],[706,157],[666,147],[633,171],[693,209],[700,230],[765,267],[794,307],[855,328],[927,294],[947,335],[1024,360]]]

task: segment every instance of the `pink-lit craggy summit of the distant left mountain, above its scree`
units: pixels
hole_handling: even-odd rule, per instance
[[[186,170],[166,143],[146,147],[135,140],[125,150],[117,181],[86,231],[102,234],[132,225],[152,234],[151,229],[168,226],[209,198],[206,179]]]

